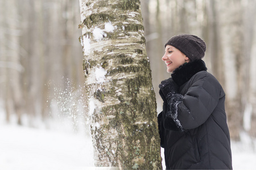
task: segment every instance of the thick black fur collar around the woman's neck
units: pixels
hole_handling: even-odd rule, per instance
[[[171,76],[174,82],[178,86],[181,86],[191,79],[193,75],[200,71],[207,71],[207,67],[205,66],[205,62],[203,60],[196,59],[195,61],[184,63],[183,65],[177,67]]]

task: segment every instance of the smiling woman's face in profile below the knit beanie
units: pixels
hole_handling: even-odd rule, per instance
[[[174,46],[166,45],[164,56],[162,60],[166,63],[167,72],[172,73],[177,67],[189,62],[189,58]]]

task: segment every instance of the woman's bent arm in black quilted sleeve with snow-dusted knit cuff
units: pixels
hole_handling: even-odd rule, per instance
[[[220,83],[213,75],[207,72],[196,74],[184,96],[175,91],[166,96],[164,128],[179,131],[197,128],[208,119],[218,100],[224,95]]]

